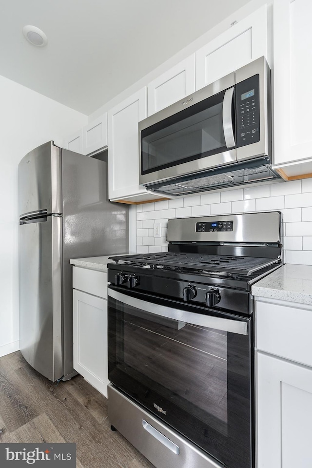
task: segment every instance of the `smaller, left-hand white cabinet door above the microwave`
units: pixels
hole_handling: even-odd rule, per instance
[[[195,55],[182,60],[148,84],[148,115],[164,109],[195,91]]]

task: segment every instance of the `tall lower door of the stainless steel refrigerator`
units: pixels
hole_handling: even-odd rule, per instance
[[[19,228],[20,351],[52,381],[62,377],[62,218],[46,216]]]

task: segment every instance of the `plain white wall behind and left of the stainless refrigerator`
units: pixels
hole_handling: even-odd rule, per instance
[[[0,356],[19,349],[18,163],[48,140],[59,146],[80,114],[0,76]]]

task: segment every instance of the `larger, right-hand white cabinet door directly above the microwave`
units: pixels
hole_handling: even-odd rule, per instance
[[[254,59],[265,56],[270,65],[267,6],[238,21],[195,53],[196,90]]]

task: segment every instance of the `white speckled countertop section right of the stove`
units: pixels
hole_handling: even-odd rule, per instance
[[[255,283],[252,294],[312,305],[312,265],[287,263]]]

